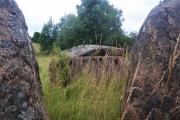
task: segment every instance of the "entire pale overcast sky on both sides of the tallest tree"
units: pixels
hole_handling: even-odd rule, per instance
[[[160,0],[109,0],[116,8],[123,10],[123,29],[126,32],[139,31],[148,13],[158,5]],[[44,23],[50,17],[57,23],[68,13],[76,13],[76,5],[81,0],[16,0],[22,10],[28,32],[33,36],[35,31],[41,32]]]

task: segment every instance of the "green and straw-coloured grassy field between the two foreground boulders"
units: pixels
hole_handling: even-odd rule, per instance
[[[38,45],[34,47],[37,49]],[[48,65],[52,56],[36,58],[51,120],[118,120],[126,71],[112,77],[108,84],[103,79],[95,82],[94,75],[85,71],[67,87],[60,87],[49,81]]]

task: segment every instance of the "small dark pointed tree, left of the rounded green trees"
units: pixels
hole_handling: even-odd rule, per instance
[[[53,43],[56,41],[59,31],[60,30],[58,24],[54,24],[52,18],[49,19],[47,24],[44,24],[39,38],[39,43],[41,45],[42,51],[51,51]]]

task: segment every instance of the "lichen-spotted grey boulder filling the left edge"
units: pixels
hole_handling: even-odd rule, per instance
[[[43,93],[24,16],[0,0],[0,119],[46,120]]]

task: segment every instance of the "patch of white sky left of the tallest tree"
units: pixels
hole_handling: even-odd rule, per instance
[[[80,0],[16,0],[22,10],[30,36],[41,31],[50,17],[57,23],[65,13],[76,13]]]

